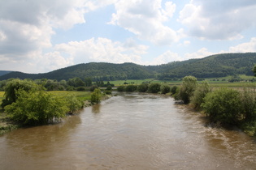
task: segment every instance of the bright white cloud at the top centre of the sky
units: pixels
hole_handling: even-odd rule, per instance
[[[171,45],[178,40],[178,36],[163,22],[173,15],[176,5],[166,2],[163,9],[161,2],[161,0],[116,2],[116,13],[112,15],[110,23],[125,28],[141,40],[149,40],[155,45]]]

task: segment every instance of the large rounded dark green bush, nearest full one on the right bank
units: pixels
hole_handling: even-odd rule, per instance
[[[212,121],[234,125],[241,116],[240,93],[231,88],[220,88],[204,98],[202,108]]]

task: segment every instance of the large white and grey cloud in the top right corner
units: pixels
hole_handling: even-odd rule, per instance
[[[254,0],[191,0],[180,11],[180,23],[189,36],[210,40],[241,39],[241,32],[255,27]]]

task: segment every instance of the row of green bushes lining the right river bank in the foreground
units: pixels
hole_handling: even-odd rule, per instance
[[[186,76],[173,95],[176,100],[190,104],[206,113],[210,121],[220,125],[237,125],[256,136],[256,91],[251,88],[211,89],[206,81],[201,84],[193,76]]]

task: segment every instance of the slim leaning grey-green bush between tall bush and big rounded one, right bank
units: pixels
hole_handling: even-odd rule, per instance
[[[206,94],[210,91],[209,83],[206,81],[203,81],[199,86],[197,86],[196,91],[194,91],[193,96],[191,97],[191,104],[193,104],[193,107],[199,109]]]

